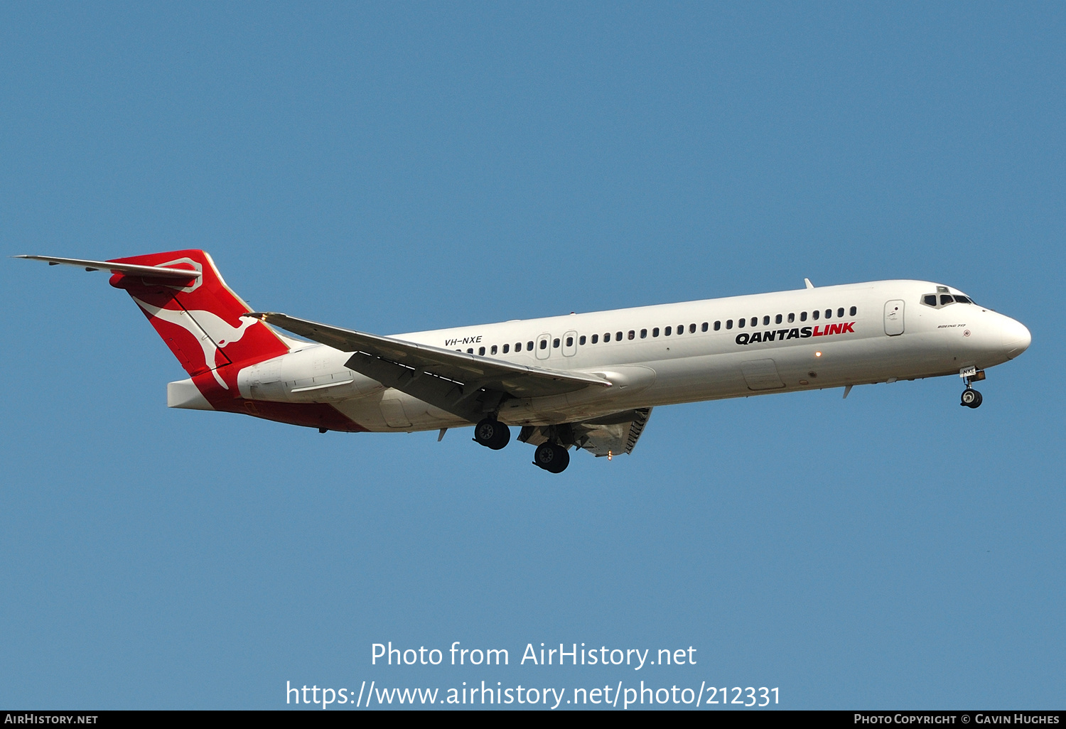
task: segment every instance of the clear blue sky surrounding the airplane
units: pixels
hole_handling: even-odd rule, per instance
[[[805,276],[1033,334],[978,410],[954,377],[662,407],[556,476],[469,430],[169,410],[104,274],[0,260],[0,707],[1063,708],[1064,71],[1061,3],[0,5],[5,255],[203,247],[254,307],[381,334]],[[697,665],[515,665],[542,642]]]

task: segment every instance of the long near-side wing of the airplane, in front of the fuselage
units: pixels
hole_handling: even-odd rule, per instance
[[[563,372],[416,344],[297,319],[284,313],[245,314],[293,334],[354,353],[346,367],[467,420],[479,420],[504,395],[537,398],[611,383],[583,372]],[[494,402],[495,400],[495,402]]]

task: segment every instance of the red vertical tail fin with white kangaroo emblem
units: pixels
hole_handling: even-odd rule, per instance
[[[241,318],[251,311],[248,305],[226,286],[214,261],[203,250],[173,250],[110,262],[200,272],[198,278],[188,281],[123,273],[111,277],[111,286],[129,292],[192,376],[210,371],[219,385],[236,393],[237,371],[241,367],[289,351],[269,326]]]

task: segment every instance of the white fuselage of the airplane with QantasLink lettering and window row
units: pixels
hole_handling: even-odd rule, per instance
[[[923,303],[928,295],[938,306]],[[630,408],[957,375],[1029,345],[1029,330],[1013,319],[976,304],[940,305],[943,295],[962,292],[930,281],[874,281],[393,337],[611,380],[610,388],[506,400],[499,411],[511,425],[550,425]],[[469,424],[349,370],[350,356],[296,343],[243,370],[241,395],[329,403],[370,431]]]

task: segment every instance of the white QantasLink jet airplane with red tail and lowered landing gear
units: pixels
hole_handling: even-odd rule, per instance
[[[972,384],[1032,341],[1019,322],[950,286],[886,280],[570,313],[383,337],[253,311],[196,249],[94,261],[181,362],[169,407],[327,431],[474,426],[492,450],[535,447],[551,473],[569,449],[631,453],[653,407],[958,375]],[[292,335],[295,335],[293,337]]]

